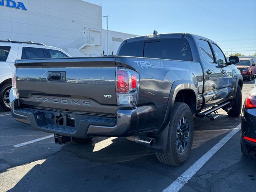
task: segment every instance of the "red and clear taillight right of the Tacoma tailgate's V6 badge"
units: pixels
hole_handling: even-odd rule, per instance
[[[118,106],[134,106],[138,93],[139,74],[128,68],[116,68],[116,96]]]

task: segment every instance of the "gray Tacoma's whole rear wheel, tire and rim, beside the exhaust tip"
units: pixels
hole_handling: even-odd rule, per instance
[[[166,152],[155,152],[157,159],[179,166],[188,158],[194,137],[192,112],[185,103],[175,102],[170,116]]]

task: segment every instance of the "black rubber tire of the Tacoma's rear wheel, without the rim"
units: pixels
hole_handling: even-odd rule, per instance
[[[189,126],[188,143],[183,152],[178,152],[176,147],[177,126],[183,117],[187,119]],[[194,137],[194,121],[192,112],[187,104],[181,102],[174,103],[168,129],[166,152],[155,152],[155,154],[161,163],[180,166],[186,161],[190,154]]]

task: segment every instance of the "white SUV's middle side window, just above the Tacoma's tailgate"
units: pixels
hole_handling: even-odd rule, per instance
[[[22,59],[36,59],[36,58],[46,58],[46,57],[44,55],[43,48],[23,47],[21,58]]]

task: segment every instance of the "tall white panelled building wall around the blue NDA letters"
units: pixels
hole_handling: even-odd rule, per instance
[[[65,48],[87,30],[88,38],[95,34],[90,28],[102,30],[101,6],[82,0],[18,0],[27,10],[0,6],[0,39],[33,41]],[[14,2],[18,2],[14,0]],[[90,34],[92,33],[92,34]],[[96,38],[97,38],[96,37]],[[101,53],[101,38],[95,39],[99,46],[90,47]],[[82,52],[86,53],[86,48]]]

